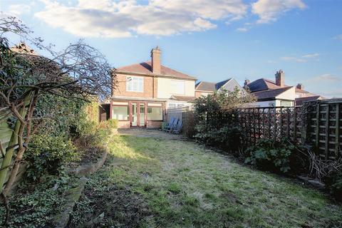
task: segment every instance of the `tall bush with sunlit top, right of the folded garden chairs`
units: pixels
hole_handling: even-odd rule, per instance
[[[197,98],[195,138],[229,152],[241,150],[243,133],[237,125],[237,108],[253,100],[251,95],[242,93],[238,88]]]

